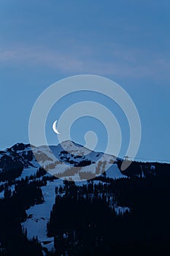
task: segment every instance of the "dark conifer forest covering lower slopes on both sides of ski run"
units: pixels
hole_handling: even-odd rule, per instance
[[[38,237],[28,239],[22,222],[30,206],[44,203],[41,187],[57,178],[46,176],[42,167],[20,180],[8,178],[9,173],[1,176],[7,182],[0,187],[0,255],[166,255],[170,169],[168,164],[151,165],[133,162],[125,170],[127,178],[103,173],[81,186],[65,180],[56,187],[47,222],[47,236],[54,240],[51,252],[42,248]],[[20,171],[16,167],[15,177]]]

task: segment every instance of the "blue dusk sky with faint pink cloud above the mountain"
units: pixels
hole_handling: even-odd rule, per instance
[[[29,116],[42,91],[63,78],[90,74],[114,80],[134,100],[142,124],[137,158],[170,160],[169,13],[169,0],[1,0],[1,150],[29,142]],[[128,124],[108,99],[75,94],[58,108],[85,97],[115,111],[123,130],[120,155],[125,155]],[[47,118],[47,141],[53,145],[55,108]],[[96,150],[104,151],[107,132],[93,118],[77,120],[72,139],[85,143],[84,133],[93,128]]]

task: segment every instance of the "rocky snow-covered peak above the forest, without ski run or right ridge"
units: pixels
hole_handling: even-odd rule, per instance
[[[125,177],[117,168],[117,159],[114,156],[90,151],[70,140],[50,147],[34,147],[18,143],[5,151],[0,151],[0,172],[4,170],[14,173],[16,169],[19,169],[21,178],[24,178],[34,175],[40,166],[52,175],[59,178],[72,178],[74,181],[95,177],[104,173],[104,170],[109,170],[108,176],[111,178]],[[83,174],[87,172],[90,176],[84,177]]]

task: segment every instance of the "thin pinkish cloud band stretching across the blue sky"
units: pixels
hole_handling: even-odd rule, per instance
[[[107,56],[96,49],[77,48],[73,53],[43,47],[20,47],[0,51],[0,64],[18,63],[47,66],[61,72],[117,75],[133,78],[170,78],[168,59],[142,50],[111,48]]]

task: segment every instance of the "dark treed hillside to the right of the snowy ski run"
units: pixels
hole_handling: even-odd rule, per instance
[[[66,182],[47,224],[54,255],[166,255],[169,196],[170,180],[156,176],[83,187]],[[130,211],[116,214],[114,205]]]

